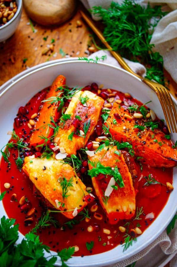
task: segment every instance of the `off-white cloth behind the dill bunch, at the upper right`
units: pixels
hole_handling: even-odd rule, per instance
[[[93,6],[108,8],[112,0],[81,0],[87,9]],[[122,0],[114,0],[121,3]],[[171,10],[157,24],[152,35],[151,43],[155,44],[154,51],[163,56],[164,68],[170,73],[173,80],[177,82],[177,0],[136,0],[137,3],[147,2],[157,4],[168,4]],[[97,16],[92,17],[99,20]]]

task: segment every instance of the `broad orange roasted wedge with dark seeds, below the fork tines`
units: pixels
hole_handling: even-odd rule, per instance
[[[113,120],[117,123],[114,124]],[[172,148],[172,142],[165,138],[160,129],[152,131],[152,127],[146,126],[146,122],[147,120],[133,118],[127,109],[114,103],[105,124],[109,126],[115,140],[132,144],[135,155],[142,163],[152,167],[176,166],[177,150]]]

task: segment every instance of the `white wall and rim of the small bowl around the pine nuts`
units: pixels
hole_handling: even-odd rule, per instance
[[[15,33],[18,27],[22,14],[22,0],[16,0],[16,3],[18,8],[15,15],[11,20],[9,20],[6,24],[0,27],[0,42],[5,41],[10,36],[12,36],[12,34]]]

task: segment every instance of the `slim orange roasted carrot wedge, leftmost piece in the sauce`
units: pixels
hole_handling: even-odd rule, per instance
[[[46,95],[46,99],[52,96],[57,96],[58,92],[56,89],[60,86],[64,86],[65,84],[66,78],[63,75],[59,75],[52,83],[50,90]],[[56,120],[59,116],[61,116],[61,111],[57,111],[58,104],[59,103],[51,104],[50,102],[44,102],[35,125],[36,131],[33,132],[30,138],[30,145],[32,147],[36,147],[37,145],[44,143],[44,139],[41,139],[39,136],[46,136],[47,138],[52,136],[53,129],[48,127],[47,124],[51,124],[51,117]]]

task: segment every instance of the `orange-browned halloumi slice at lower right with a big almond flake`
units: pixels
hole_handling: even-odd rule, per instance
[[[118,154],[115,154],[118,153]],[[107,147],[95,153],[93,157],[90,157],[89,169],[93,168],[93,163],[100,162],[105,167],[111,167],[112,170],[117,166],[124,183],[124,187],[119,187],[113,182],[113,185],[118,186],[117,190],[110,187],[112,193],[106,197],[105,191],[110,186],[110,180],[113,177],[107,176],[106,178],[99,179],[99,177],[92,177],[92,183],[99,198],[100,204],[105,210],[109,222],[116,224],[118,220],[130,219],[133,217],[136,209],[135,190],[133,187],[133,181],[131,173],[126,164],[126,159],[121,150],[117,150],[117,147],[112,147],[107,150]]]

